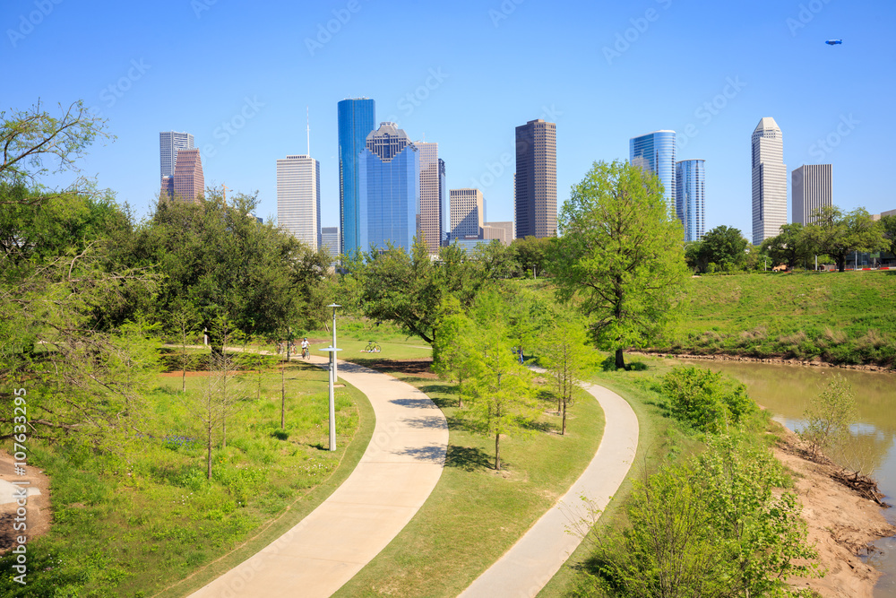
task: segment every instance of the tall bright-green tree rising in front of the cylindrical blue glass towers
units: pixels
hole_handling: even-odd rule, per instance
[[[676,316],[688,275],[681,223],[659,178],[619,161],[595,162],[559,222],[549,266],[557,296],[581,299],[593,339],[624,368],[625,348],[643,346]]]

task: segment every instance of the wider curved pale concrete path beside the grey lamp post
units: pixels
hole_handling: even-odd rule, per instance
[[[312,362],[325,365],[326,358]],[[295,527],[205,585],[196,598],[329,596],[392,541],[444,469],[448,424],[426,394],[397,378],[340,361],[339,377],[376,415],[358,466]]]

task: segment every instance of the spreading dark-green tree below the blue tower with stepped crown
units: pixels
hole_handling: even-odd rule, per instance
[[[371,252],[367,263],[356,263],[352,275],[362,278],[361,306],[367,317],[389,320],[432,344],[444,316],[444,300],[453,297],[461,309],[470,308],[483,286],[479,265],[457,246],[444,247],[437,261],[415,239],[410,253],[389,247]]]

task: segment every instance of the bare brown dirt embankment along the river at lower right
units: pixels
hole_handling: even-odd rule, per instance
[[[818,562],[827,573],[820,579],[791,578],[798,588],[812,588],[831,598],[871,598],[881,573],[862,561],[868,542],[896,535],[881,507],[863,498],[834,476],[840,468],[831,463],[808,460],[797,435],[786,430],[775,456],[796,475],[794,485],[803,503],[803,519],[809,542],[818,550]]]

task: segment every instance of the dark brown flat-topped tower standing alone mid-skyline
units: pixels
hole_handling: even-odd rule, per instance
[[[556,237],[556,124],[540,118],[516,127],[516,176],[513,179],[516,235]]]

